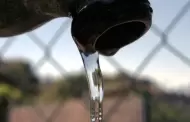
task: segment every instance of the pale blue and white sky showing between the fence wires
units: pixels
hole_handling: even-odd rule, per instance
[[[153,25],[156,25],[161,31],[164,31],[188,0],[151,0],[150,2],[154,10]],[[70,18],[57,18],[32,32],[36,34],[44,44],[47,44],[57,29],[64,24],[65,30],[63,30],[63,34],[53,46],[52,56],[64,70],[70,73],[83,68],[81,57],[70,34],[71,21]],[[190,58],[189,22],[190,10],[168,36],[169,43],[188,58]],[[12,45],[3,53],[5,58],[25,58],[35,64],[43,57],[42,49],[39,48],[27,34],[15,37],[16,39]],[[138,41],[125,46],[111,58],[114,58],[120,63],[125,70],[133,73],[160,40],[160,37],[150,30]],[[6,41],[7,38],[0,38],[0,47],[2,47]],[[117,71],[117,68],[110,64],[103,56],[100,56],[100,66],[102,71],[108,74]],[[37,71],[40,75],[60,75],[60,70],[54,68],[51,62],[46,62],[39,67]],[[61,74],[64,74],[62,70]],[[155,55],[148,66],[142,71],[141,75],[151,77],[155,79],[158,84],[169,89],[188,86],[190,83],[190,68],[188,65],[164,48]]]

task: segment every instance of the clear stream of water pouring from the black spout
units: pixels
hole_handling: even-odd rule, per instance
[[[91,122],[103,121],[103,78],[99,66],[99,54],[80,52],[90,88]]]

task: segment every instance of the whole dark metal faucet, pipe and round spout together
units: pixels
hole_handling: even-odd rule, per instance
[[[9,0],[0,2],[0,37],[30,32],[71,17],[79,50],[112,56],[142,37],[152,23],[148,0]]]

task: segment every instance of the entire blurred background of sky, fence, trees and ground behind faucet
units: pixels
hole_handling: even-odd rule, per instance
[[[104,122],[190,122],[190,1],[150,2],[150,31],[115,56],[100,56]],[[90,121],[88,84],[70,24],[57,18],[0,38],[0,121]]]

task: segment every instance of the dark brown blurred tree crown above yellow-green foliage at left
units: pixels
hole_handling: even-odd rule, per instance
[[[19,89],[23,96],[31,97],[39,92],[39,80],[27,61],[5,60],[0,65],[0,83]]]

